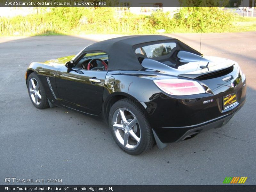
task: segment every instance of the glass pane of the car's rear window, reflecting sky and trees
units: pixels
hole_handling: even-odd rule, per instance
[[[172,49],[177,46],[174,42],[151,44],[141,46],[135,49],[136,54],[142,54],[147,58],[161,57],[172,52]]]

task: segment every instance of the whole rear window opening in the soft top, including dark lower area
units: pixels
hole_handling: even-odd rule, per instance
[[[177,39],[137,44],[133,46],[133,50],[140,63],[142,63],[144,58],[149,58],[164,63],[172,68],[178,68],[185,64],[184,62],[181,63],[180,59],[177,57],[179,51],[202,55],[200,52]]]

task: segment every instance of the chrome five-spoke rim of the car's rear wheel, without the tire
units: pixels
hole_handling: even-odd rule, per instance
[[[127,149],[135,149],[140,144],[141,131],[137,118],[126,108],[118,108],[112,119],[117,140]]]

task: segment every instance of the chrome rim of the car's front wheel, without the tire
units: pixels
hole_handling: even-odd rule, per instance
[[[34,77],[32,77],[29,80],[28,89],[29,89],[30,97],[33,100],[33,102],[36,105],[40,105],[41,99],[42,99],[41,90],[40,90],[38,82],[36,81],[36,79]]]

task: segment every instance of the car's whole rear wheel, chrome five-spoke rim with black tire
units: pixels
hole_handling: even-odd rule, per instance
[[[139,155],[153,147],[154,138],[148,119],[134,101],[123,99],[114,103],[108,123],[116,143],[125,152]]]

